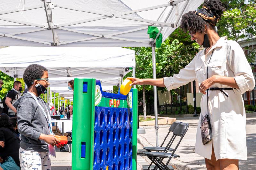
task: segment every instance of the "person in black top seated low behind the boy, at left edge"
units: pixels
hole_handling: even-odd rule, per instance
[[[10,124],[9,116],[0,114],[0,170],[20,170],[20,139]]]

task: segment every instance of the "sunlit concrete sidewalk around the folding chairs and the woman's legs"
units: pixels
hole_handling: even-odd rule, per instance
[[[176,154],[180,158],[172,158],[171,165],[179,170],[204,170],[206,169],[204,158],[194,152],[196,129],[198,117],[177,118],[177,121],[189,123],[189,129],[183,138]],[[158,129],[159,144],[164,140],[170,125],[160,126]],[[138,149],[143,146],[155,146],[155,129],[154,127],[144,127],[146,134],[138,134]],[[256,116],[246,118],[246,138],[248,160],[239,161],[240,170],[256,170]],[[177,143],[173,143],[175,146]],[[165,159],[166,160],[166,159]],[[149,165],[151,161],[147,157],[137,157],[137,169],[140,170],[142,165]]]

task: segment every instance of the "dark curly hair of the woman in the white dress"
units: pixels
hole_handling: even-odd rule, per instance
[[[216,18],[221,18],[221,15],[226,10],[220,0],[205,0],[204,6],[212,11]],[[213,25],[196,15],[195,11],[189,11],[182,16],[180,28],[183,29],[184,32],[189,30],[191,33],[203,33],[204,24],[214,29]]]

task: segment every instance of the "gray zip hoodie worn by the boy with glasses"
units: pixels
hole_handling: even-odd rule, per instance
[[[37,97],[45,113],[50,111],[49,106],[41,97]],[[20,147],[27,151],[47,152],[48,144],[39,140],[41,133],[49,135],[49,127],[44,112],[29,93],[25,93],[14,104],[17,109],[18,131],[21,134]],[[51,119],[51,118],[50,118]]]

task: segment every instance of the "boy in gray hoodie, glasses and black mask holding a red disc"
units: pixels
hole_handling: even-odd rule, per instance
[[[23,74],[28,92],[14,104],[21,134],[20,166],[24,169],[51,169],[49,145],[60,141],[52,134],[50,108],[40,97],[47,92],[48,70],[38,64],[29,65]],[[49,144],[49,145],[48,145]]]

